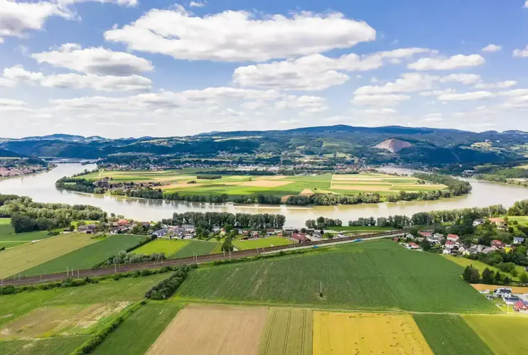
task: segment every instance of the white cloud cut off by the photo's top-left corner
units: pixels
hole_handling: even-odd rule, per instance
[[[51,16],[72,18],[72,13],[51,2],[0,0],[0,43],[4,37],[22,37],[28,30],[41,30]]]

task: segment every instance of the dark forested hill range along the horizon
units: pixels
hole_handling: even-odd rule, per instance
[[[404,142],[396,153],[375,148],[388,139]],[[0,148],[23,155],[58,158],[103,158],[116,153],[192,155],[218,153],[284,153],[320,155],[345,153],[372,163],[496,163],[519,160],[515,152],[528,143],[522,131],[475,133],[456,129],[401,126],[320,126],[286,131],[233,131],[201,133],[188,137],[122,138],[53,135],[3,139]],[[381,145],[383,146],[383,145]]]

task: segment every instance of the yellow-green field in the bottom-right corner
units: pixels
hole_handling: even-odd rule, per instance
[[[522,316],[463,315],[493,354],[528,354],[528,319]]]

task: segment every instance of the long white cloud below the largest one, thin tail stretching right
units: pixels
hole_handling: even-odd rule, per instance
[[[237,67],[233,73],[233,82],[241,87],[322,90],[350,79],[339,71],[374,70],[382,67],[384,59],[394,60],[428,52],[431,50],[426,48],[401,48],[362,56],[348,54],[339,58],[313,54],[296,60]]]

